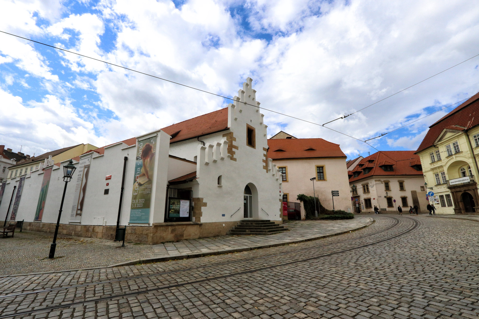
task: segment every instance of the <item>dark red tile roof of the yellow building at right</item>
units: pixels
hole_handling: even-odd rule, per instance
[[[433,146],[434,141],[445,128],[462,131],[464,128],[468,129],[476,125],[479,125],[479,92],[429,126],[429,131],[416,150],[416,154]]]

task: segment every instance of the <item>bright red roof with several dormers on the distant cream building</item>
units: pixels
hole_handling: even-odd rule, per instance
[[[368,160],[374,159],[373,163]],[[377,160],[376,160],[377,159]],[[422,171],[416,171],[411,167],[411,162],[421,163],[419,155],[414,154],[414,151],[379,151],[376,152],[358,163],[352,171],[348,171],[349,182],[355,182],[376,175],[422,175]],[[379,165],[390,163],[386,165],[394,165],[394,171],[384,171]],[[359,167],[364,164],[363,167]],[[365,174],[363,169],[365,167],[372,167],[372,170]],[[354,177],[354,172],[360,172],[357,177]]]

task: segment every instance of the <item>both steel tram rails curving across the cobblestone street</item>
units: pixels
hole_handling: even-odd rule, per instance
[[[368,235],[364,235],[364,236],[360,236],[360,237],[355,238],[355,239],[357,240],[357,239],[362,239],[362,238],[365,238],[365,237],[374,236],[378,233],[387,231],[386,229],[389,230],[389,229],[394,228],[394,227],[401,224],[401,221],[398,218],[389,217],[389,216],[388,216],[388,218],[395,219],[395,223],[393,225],[389,226],[388,228],[382,229],[381,231],[378,231],[378,232],[375,232],[375,233],[372,233],[372,234],[368,234]],[[343,250],[340,250],[340,251],[332,251],[332,252],[328,252],[328,253],[323,253],[323,254],[320,254],[318,256],[314,256],[314,257],[310,257],[310,258],[299,259],[299,260],[295,260],[295,261],[291,261],[291,262],[277,263],[277,264],[273,264],[273,265],[270,265],[270,266],[254,268],[254,269],[251,269],[251,270],[240,271],[240,272],[236,272],[236,273],[228,273],[228,274],[219,275],[219,276],[210,276],[210,277],[207,277],[207,278],[194,280],[194,281],[181,282],[181,283],[176,283],[176,284],[172,284],[172,285],[156,286],[156,287],[149,288],[149,289],[129,291],[129,292],[125,292],[125,293],[121,293],[121,294],[117,294],[117,295],[103,296],[103,297],[97,297],[97,298],[93,297],[93,298],[90,298],[90,299],[76,301],[76,302],[67,302],[67,303],[48,306],[48,307],[44,307],[44,308],[36,308],[36,309],[20,311],[20,312],[11,313],[11,314],[0,315],[0,319],[10,318],[10,317],[14,317],[14,316],[24,316],[24,315],[28,315],[28,314],[32,314],[32,313],[36,313],[36,312],[44,312],[44,311],[54,310],[54,309],[58,309],[58,308],[68,308],[68,307],[77,306],[77,305],[81,305],[81,304],[85,304],[85,303],[101,302],[101,301],[111,300],[111,299],[116,299],[116,298],[123,298],[123,297],[128,297],[128,296],[148,294],[148,293],[153,292],[153,291],[159,291],[159,290],[163,290],[163,289],[171,289],[171,288],[180,287],[180,286],[184,286],[184,285],[200,284],[200,283],[204,283],[204,282],[208,282],[208,281],[214,281],[214,280],[220,280],[220,279],[224,279],[224,278],[228,278],[228,277],[232,277],[232,276],[248,274],[248,273],[255,273],[255,272],[259,272],[259,271],[273,269],[273,268],[276,268],[276,267],[283,267],[283,266],[287,266],[287,265],[291,265],[291,264],[295,264],[295,263],[308,262],[308,261],[312,261],[312,260],[315,260],[315,259],[324,258],[324,257],[328,257],[328,256],[335,255],[335,254],[340,254],[340,253],[347,252],[347,251],[353,251],[353,250],[356,250],[356,249],[368,247],[368,246],[371,246],[371,245],[375,245],[375,244],[378,244],[378,243],[381,243],[381,242],[385,242],[385,241],[388,241],[388,240],[391,240],[391,239],[398,238],[400,236],[403,236],[403,235],[413,231],[414,229],[416,229],[420,225],[419,221],[417,221],[414,218],[410,218],[410,217],[403,217],[403,218],[412,221],[412,225],[410,227],[408,227],[406,230],[401,231],[398,234],[388,236],[386,238],[376,240],[376,241],[373,241],[373,242],[370,242],[370,243],[367,243],[367,244],[364,244],[364,245],[355,246],[355,247],[351,247],[351,248],[348,248],[348,249],[343,249]],[[348,240],[354,240],[354,239],[346,239],[346,240],[342,240],[340,242],[344,242],[344,241],[348,241]],[[339,243],[339,242],[337,242],[337,243]],[[324,246],[324,245],[321,245],[321,246]],[[308,247],[307,249],[314,249],[314,248],[318,248],[318,246]],[[304,249],[301,249],[301,250],[304,250]],[[297,251],[299,251],[299,250],[297,250]],[[282,254],[267,255],[267,256],[255,257],[255,258],[251,258],[251,259],[262,259],[262,258],[268,258],[268,257],[273,257],[273,256],[278,256],[278,255],[282,255]],[[241,261],[237,261],[237,262],[245,262],[245,261],[248,261],[248,260],[251,260],[251,259],[241,260]],[[231,263],[231,262],[227,262],[227,263]],[[202,267],[214,267],[214,266],[217,266],[219,264],[224,264],[224,263],[217,263],[217,264],[212,264],[212,265],[207,265],[207,266],[202,266]],[[197,267],[194,267],[194,268],[197,268]],[[181,270],[181,271],[184,271],[184,270]],[[177,272],[177,271],[174,271],[174,272]],[[143,275],[143,277],[154,276],[154,275],[158,276],[158,275],[166,274],[166,273],[171,273],[171,272]],[[139,277],[137,277],[137,278],[139,278]],[[122,278],[122,279],[119,278],[119,279],[115,279],[115,281],[131,280],[131,279],[135,279],[135,278],[133,278],[133,277]],[[103,283],[109,283],[109,282],[112,282],[112,281],[105,281]],[[81,286],[84,286],[84,285],[95,285],[95,283],[82,284]],[[72,288],[72,287],[73,286],[61,287],[61,288],[62,289],[69,289],[69,288]],[[60,287],[58,287],[58,288],[60,288]],[[56,288],[53,288],[53,289],[56,289]],[[43,291],[43,292],[48,293],[48,291]],[[33,291],[33,292],[29,292],[29,293],[39,294],[39,293],[42,293],[42,291]],[[10,295],[10,296],[13,297],[13,294]],[[19,295],[16,295],[16,296],[19,296]],[[4,296],[4,297],[6,297],[6,296]]]

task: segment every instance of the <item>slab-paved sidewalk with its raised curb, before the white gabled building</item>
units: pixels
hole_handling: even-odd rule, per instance
[[[274,235],[219,236],[203,239],[190,239],[153,245],[154,257],[122,262],[112,266],[137,263],[161,262],[186,259],[238,251],[249,251],[293,244],[323,237],[340,235],[370,225],[373,218],[354,216],[345,220],[305,220],[289,221],[283,224],[288,231]]]

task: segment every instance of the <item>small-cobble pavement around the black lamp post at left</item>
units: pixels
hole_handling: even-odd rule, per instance
[[[15,231],[13,238],[0,237],[0,275],[36,273],[111,265],[138,256],[153,256],[150,245],[121,243],[107,239],[58,235],[56,258],[48,259],[53,234]]]

